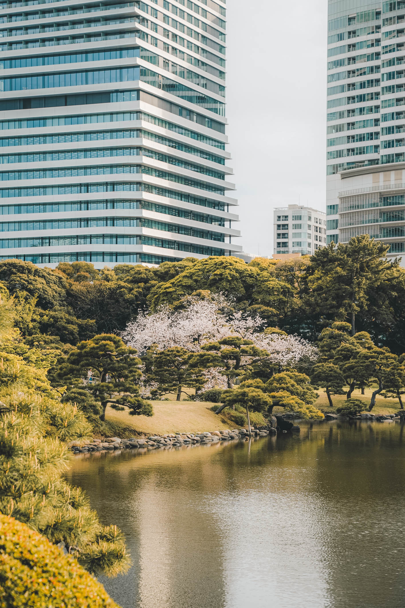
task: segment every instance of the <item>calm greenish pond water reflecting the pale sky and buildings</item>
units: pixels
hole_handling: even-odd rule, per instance
[[[73,458],[69,480],[126,534],[102,579],[123,608],[403,608],[405,438],[396,423]]]

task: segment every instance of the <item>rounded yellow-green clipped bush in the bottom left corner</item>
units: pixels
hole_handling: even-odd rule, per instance
[[[73,606],[119,608],[72,556],[0,514],[0,608]]]

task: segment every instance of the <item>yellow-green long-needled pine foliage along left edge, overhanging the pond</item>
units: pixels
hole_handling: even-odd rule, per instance
[[[67,483],[66,442],[92,433],[83,413],[61,404],[43,368],[12,352],[12,301],[0,301],[0,513],[13,516],[53,544],[63,544],[89,572],[128,570],[123,536],[103,526],[79,488]],[[2,345],[7,341],[7,351]]]

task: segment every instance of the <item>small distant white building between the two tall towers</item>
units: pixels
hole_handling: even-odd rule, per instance
[[[274,254],[313,255],[326,244],[326,215],[313,207],[274,209]]]

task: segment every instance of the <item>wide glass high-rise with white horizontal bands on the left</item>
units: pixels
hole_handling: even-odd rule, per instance
[[[0,258],[232,255],[223,0],[0,2]]]

